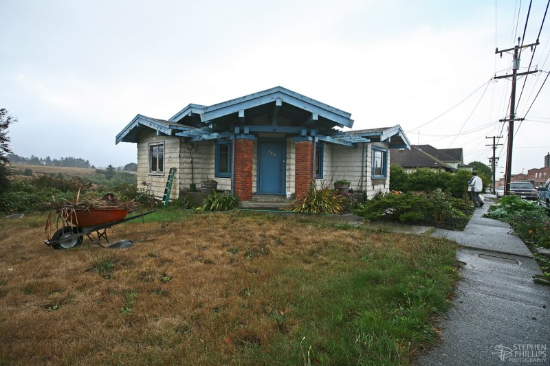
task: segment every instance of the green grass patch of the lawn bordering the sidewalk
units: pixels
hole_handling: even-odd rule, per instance
[[[250,347],[239,361],[410,363],[419,348],[437,341],[431,319],[448,308],[448,295],[458,279],[454,244],[422,240],[412,255],[365,246],[355,258],[340,249],[323,253],[332,266],[284,266],[271,282],[272,301],[278,306],[267,314],[281,334],[267,349]],[[294,288],[292,301],[282,301],[289,297],[289,288]]]

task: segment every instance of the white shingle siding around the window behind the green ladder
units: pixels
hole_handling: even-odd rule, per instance
[[[149,174],[148,146],[151,143],[164,142],[164,175]],[[179,139],[177,137],[157,136],[155,133],[144,133],[140,135],[140,142],[137,144],[137,189],[146,189],[142,182],[152,184],[152,193],[157,199],[162,199],[166,179],[170,168],[176,168],[176,174],[172,183],[170,198],[177,198],[179,193]]]

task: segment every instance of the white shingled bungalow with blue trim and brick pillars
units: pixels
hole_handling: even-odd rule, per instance
[[[389,189],[391,149],[410,144],[399,125],[343,132],[351,114],[283,87],[211,106],[189,104],[170,119],[136,115],[115,142],[137,144],[137,181],[171,197],[207,178],[237,194],[297,196],[311,181],[351,181],[367,196]]]

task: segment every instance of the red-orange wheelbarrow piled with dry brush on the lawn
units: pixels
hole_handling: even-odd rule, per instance
[[[155,210],[126,217],[130,212],[130,209],[120,207],[102,207],[100,209],[65,207],[59,209],[57,211],[56,231],[53,236],[50,236],[52,215],[50,214],[50,217],[47,219],[45,228],[46,238],[51,239],[44,240],[44,244],[48,247],[54,247],[54,249],[69,249],[80,244],[84,236],[87,236],[98,244],[101,238],[104,238],[109,243],[107,229],[122,224],[122,222],[151,214]],[[97,240],[94,237],[94,233],[97,236]]]

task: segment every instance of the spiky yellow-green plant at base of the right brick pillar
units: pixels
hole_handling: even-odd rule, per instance
[[[314,214],[340,214],[342,213],[344,197],[329,190],[329,187],[318,189],[312,185],[305,196],[296,197],[290,204],[290,210],[294,212],[312,212]]]

